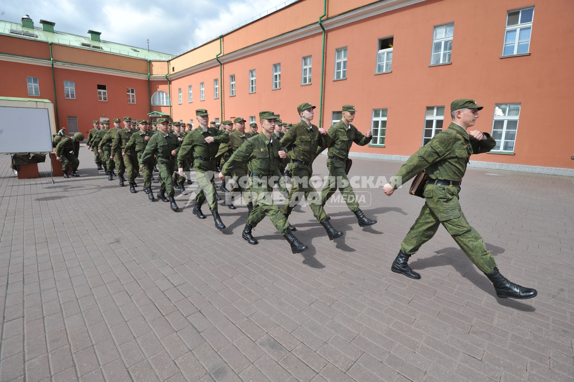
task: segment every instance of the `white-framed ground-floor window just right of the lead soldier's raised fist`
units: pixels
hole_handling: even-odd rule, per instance
[[[497,103],[494,106],[491,136],[497,141],[497,145],[493,151],[514,152],[519,116],[519,103]]]

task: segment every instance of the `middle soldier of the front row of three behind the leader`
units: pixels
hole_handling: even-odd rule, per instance
[[[323,128],[317,128],[312,125],[313,109],[311,103],[301,103],[297,106],[297,111],[301,117],[301,122],[293,125],[289,129],[289,133],[281,140],[281,145],[284,147],[293,146],[291,153],[291,172],[293,174],[293,187],[287,197],[285,206],[281,209],[286,217],[289,217],[293,208],[300,202],[301,198],[305,196],[308,200],[309,206],[313,211],[313,215],[327,231],[329,240],[334,240],[343,236],[342,231],[335,230],[327,219],[323,206],[320,202],[320,196],[317,194],[315,187],[310,182],[311,175],[313,174],[312,163],[315,160],[315,153],[317,147],[323,148],[331,145],[331,137]]]

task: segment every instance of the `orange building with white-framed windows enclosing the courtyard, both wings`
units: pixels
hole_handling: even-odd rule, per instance
[[[489,0],[479,6],[469,0],[299,0],[179,56],[150,60],[149,81],[147,61],[131,57],[122,57],[127,66],[121,70],[145,78],[57,67],[57,83],[76,72],[88,93],[106,78],[119,89],[113,96],[118,105],[70,100],[59,105],[59,114],[140,118],[158,110],[189,123],[195,109],[208,109],[211,120],[258,122],[259,111],[272,110],[296,123],[297,105],[310,102],[317,106],[313,122],[327,129],[340,118],[341,106],[352,104],[358,110],[353,124],[363,133],[373,130],[374,138],[352,146],[351,156],[405,160],[448,126],[453,99],[472,98],[484,106],[476,128],[492,134],[497,147],[474,156],[471,166],[574,176],[574,132],[550,122],[550,113],[569,110],[572,99],[572,14],[571,0]],[[6,49],[0,40],[0,53]],[[0,84],[0,95],[29,97],[25,87],[23,95],[14,94],[29,75],[25,64],[0,58],[3,71],[17,74]],[[37,71],[51,83],[51,67]],[[121,100],[130,86],[136,105]],[[56,90],[60,104],[63,86]],[[150,108],[156,91],[169,92],[171,110]],[[95,115],[87,119],[91,123]]]

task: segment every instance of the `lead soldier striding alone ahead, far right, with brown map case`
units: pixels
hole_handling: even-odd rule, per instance
[[[494,284],[499,298],[533,298],[537,295],[536,290],[511,283],[501,275],[482,237],[468,224],[460,207],[460,183],[470,155],[489,152],[496,145],[488,133],[479,130],[467,132],[474,126],[481,109],[482,106],[476,105],[472,99],[453,101],[452,123],[448,129],[437,133],[430,142],[418,149],[402,165],[396,178],[383,186],[385,194],[390,196],[401,182],[405,183],[422,170],[429,177],[424,188],[425,205],[402,241],[391,271],[420,279],[421,275],[410,269],[409,257],[430,240],[442,224],[472,263]]]

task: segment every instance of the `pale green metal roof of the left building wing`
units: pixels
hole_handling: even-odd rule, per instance
[[[92,51],[115,53],[117,55],[137,57],[144,60],[169,60],[174,56],[168,53],[149,51],[148,49],[132,47],[130,45],[112,43],[111,41],[92,41],[90,35],[78,36],[77,34],[59,32],[47,32],[41,26],[31,28],[22,28],[19,22],[0,20],[0,34],[11,37],[28,38],[28,40],[45,41],[71,47],[91,49]],[[87,44],[82,45],[82,44]],[[95,47],[95,48],[94,48]]]

